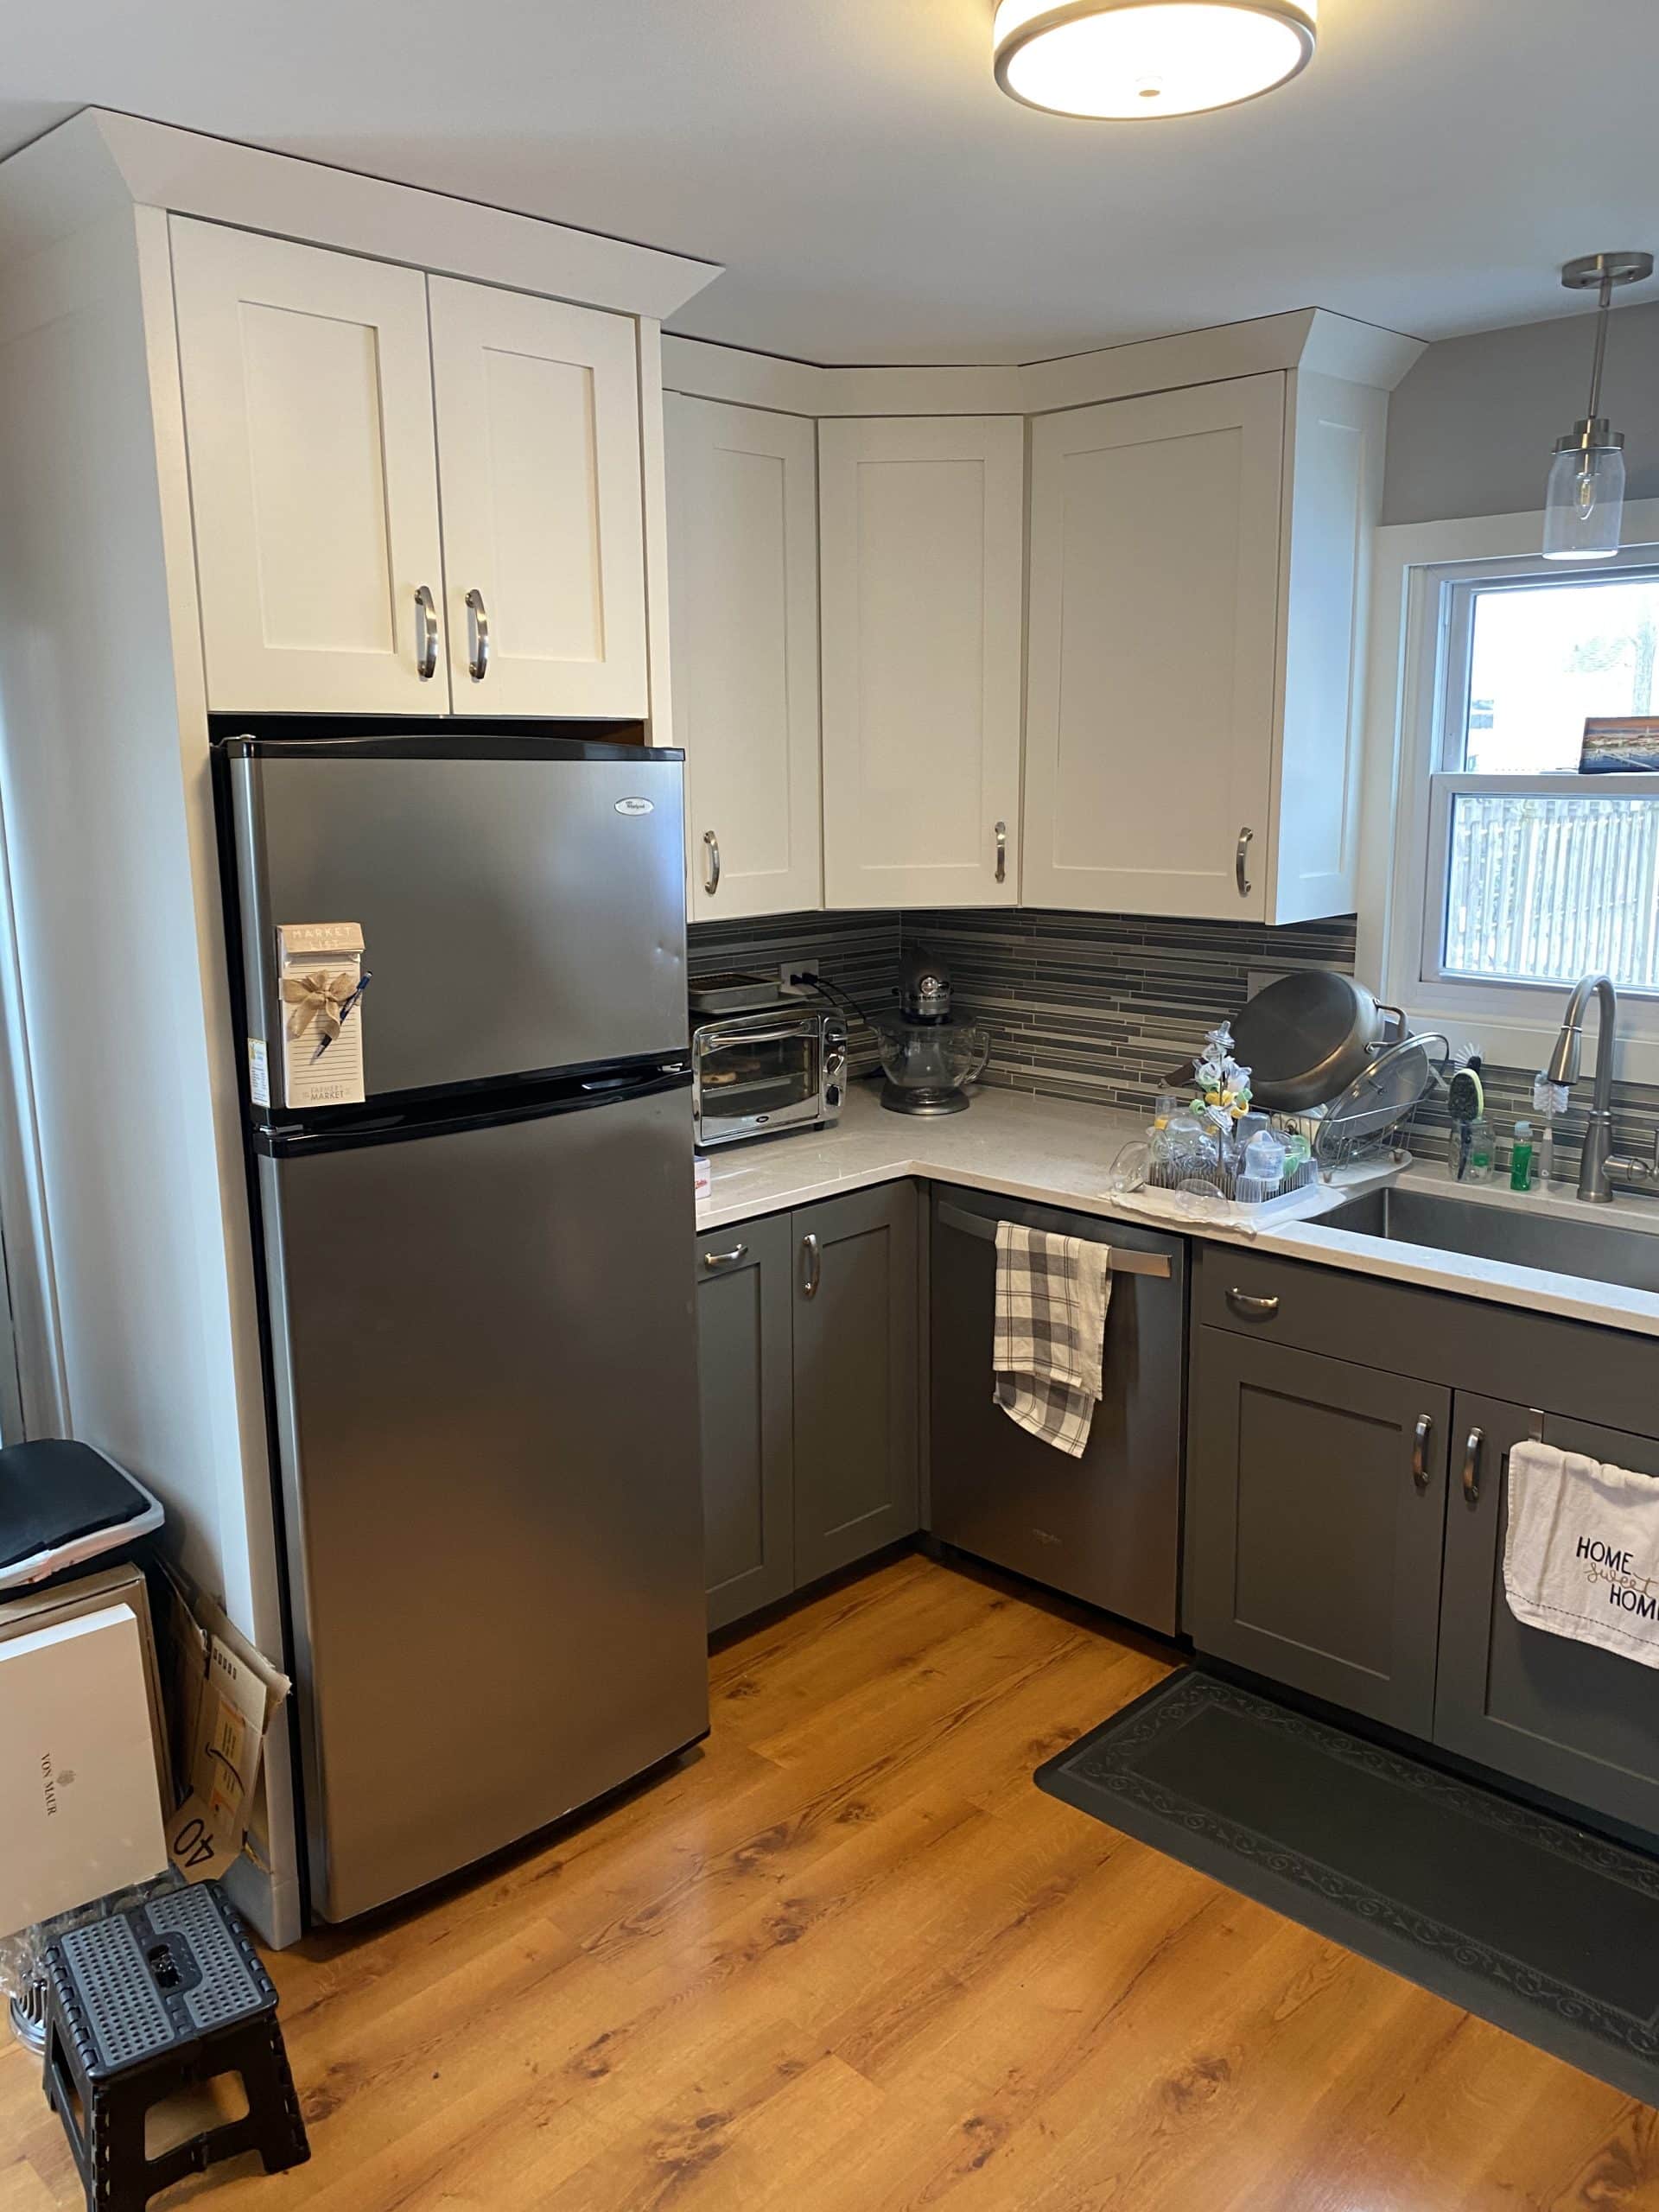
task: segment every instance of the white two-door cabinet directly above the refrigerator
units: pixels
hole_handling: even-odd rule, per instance
[[[170,239],[208,706],[644,717],[633,319]]]

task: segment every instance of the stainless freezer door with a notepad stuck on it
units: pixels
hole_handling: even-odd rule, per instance
[[[363,925],[369,1099],[686,1048],[677,759],[279,743],[230,790],[279,1108],[285,922]]]

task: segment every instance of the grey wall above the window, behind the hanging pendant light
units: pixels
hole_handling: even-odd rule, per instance
[[[1540,509],[1551,447],[1584,414],[1593,345],[1588,314],[1431,345],[1389,403],[1383,520]],[[1615,307],[1601,411],[1624,431],[1630,498],[1659,498],[1659,303]]]

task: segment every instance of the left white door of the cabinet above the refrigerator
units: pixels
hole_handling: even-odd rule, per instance
[[[208,706],[447,712],[427,279],[175,217],[173,288]]]

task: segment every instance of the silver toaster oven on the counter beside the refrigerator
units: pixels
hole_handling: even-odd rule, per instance
[[[692,1031],[699,1148],[825,1128],[847,1088],[847,1024],[818,1006],[734,1013]]]

